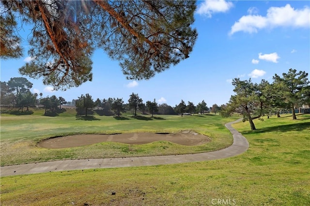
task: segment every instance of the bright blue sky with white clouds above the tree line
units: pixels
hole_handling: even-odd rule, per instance
[[[66,91],[53,91],[42,79],[31,79],[31,92],[67,101],[89,93],[93,99],[123,98],[138,93],[143,102],[171,106],[181,100],[208,106],[225,104],[233,95],[233,78],[265,79],[290,68],[310,73],[310,1],[197,1],[194,28],[198,40],[188,59],[150,80],[126,80],[117,61],[94,52],[93,81]],[[2,60],[1,81],[21,76],[18,68],[31,59]]]

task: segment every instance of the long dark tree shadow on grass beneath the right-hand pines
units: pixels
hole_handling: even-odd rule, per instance
[[[310,122],[305,123],[293,123],[293,124],[286,124],[286,125],[279,125],[279,126],[273,126],[273,127],[264,127],[262,129],[253,130],[253,131],[245,131],[242,132],[243,134],[249,134],[249,133],[263,133],[263,132],[290,132],[290,131],[303,131],[303,130],[309,130],[310,128]]]

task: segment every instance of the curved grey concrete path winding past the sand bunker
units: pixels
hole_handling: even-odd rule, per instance
[[[186,162],[200,162],[233,157],[248,150],[248,141],[233,129],[232,124],[241,119],[225,124],[225,127],[233,134],[233,144],[230,147],[197,154],[167,155],[151,157],[128,157],[128,158],[104,158],[87,160],[63,160],[53,162],[38,162],[0,167],[0,177],[25,175],[44,172],[56,172],[64,170],[151,166],[159,164],[173,164]]]

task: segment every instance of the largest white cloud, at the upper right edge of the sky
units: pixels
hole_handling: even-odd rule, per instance
[[[310,27],[310,8],[294,9],[286,4],[284,7],[270,7],[266,16],[244,15],[234,23],[229,34],[238,31],[257,33],[258,29],[275,27]]]

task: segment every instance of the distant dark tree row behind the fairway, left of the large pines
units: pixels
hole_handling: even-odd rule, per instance
[[[124,103],[123,98],[108,98],[95,101],[89,94],[82,94],[78,99],[73,99],[71,102],[66,102],[63,97],[56,97],[55,95],[42,97],[43,93],[31,93],[32,83],[24,77],[14,77],[8,82],[1,83],[1,105],[7,107],[17,107],[24,111],[29,110],[30,107],[43,107],[45,109],[44,115],[56,116],[63,112],[62,105],[69,104],[76,106],[77,115],[90,115],[96,112],[98,115],[122,115],[123,112],[131,111],[133,115],[137,116],[139,111],[142,114],[154,115],[193,115],[195,113],[204,114],[205,112],[217,112],[221,107],[214,104],[208,108],[204,100],[197,105],[192,102],[187,104],[181,100],[181,103],[172,107],[167,103],[158,104],[156,100],[146,101],[139,97],[138,94],[130,94],[127,103]],[[40,97],[38,97],[40,96]]]

